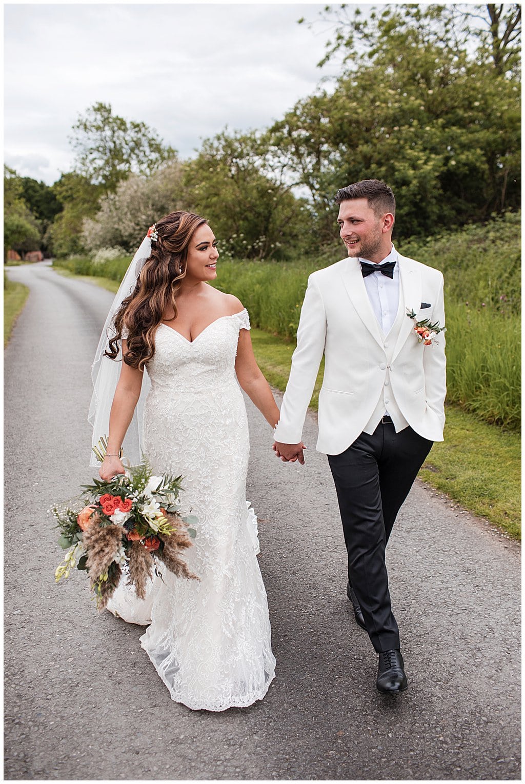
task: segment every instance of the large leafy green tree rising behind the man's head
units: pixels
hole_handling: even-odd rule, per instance
[[[339,52],[346,70],[271,129],[320,236],[333,236],[335,191],[369,177],[400,197],[405,235],[520,205],[520,85],[467,21],[447,6],[387,6],[336,30],[324,61]]]

